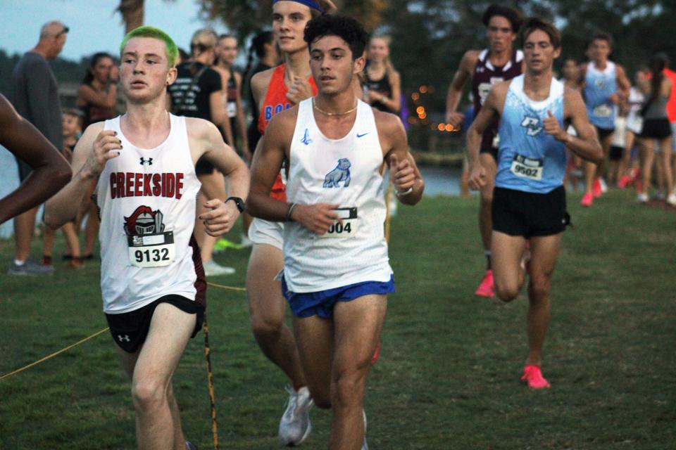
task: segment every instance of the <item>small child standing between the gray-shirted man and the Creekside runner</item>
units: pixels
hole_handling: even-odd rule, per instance
[[[73,148],[77,139],[82,134],[82,115],[77,110],[63,110],[61,115],[61,123],[63,124],[63,156],[68,162],[73,158]],[[42,265],[51,266],[51,254],[54,251],[54,236],[56,230],[43,226],[44,235],[42,238]],[[80,257],[80,241],[77,239],[77,231],[75,231],[75,217],[73,221],[61,227],[63,236],[65,236],[66,251],[63,255],[63,260],[68,261],[68,269],[78,269],[82,267],[82,258]]]

